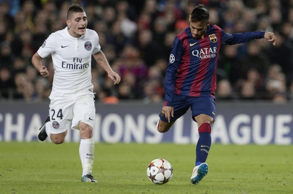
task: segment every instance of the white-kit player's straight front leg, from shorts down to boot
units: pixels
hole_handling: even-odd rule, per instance
[[[97,182],[91,175],[94,164],[95,141],[93,139],[93,126],[95,123],[96,109],[91,95],[79,98],[73,109],[74,117],[72,128],[79,129],[81,135],[80,158],[83,167],[82,181]]]

